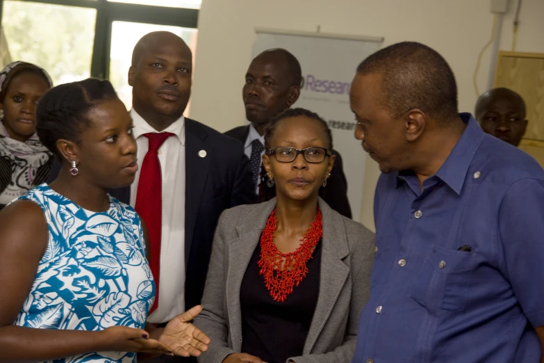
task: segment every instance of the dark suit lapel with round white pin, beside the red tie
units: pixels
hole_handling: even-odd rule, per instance
[[[185,119],[186,127],[186,191],[185,191],[185,266],[189,263],[189,253],[192,236],[195,234],[195,223],[208,168],[212,157],[213,147],[206,143],[208,134],[199,127],[196,121]],[[204,152],[202,152],[204,150]],[[204,157],[203,157],[204,156]]]

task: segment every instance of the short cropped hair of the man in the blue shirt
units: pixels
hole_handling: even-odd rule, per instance
[[[418,42],[380,49],[357,67],[359,74],[380,74],[384,106],[393,118],[419,108],[447,123],[459,106],[455,76],[443,56]]]

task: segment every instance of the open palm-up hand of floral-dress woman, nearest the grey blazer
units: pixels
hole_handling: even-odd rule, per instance
[[[208,350],[208,344],[210,344],[211,340],[189,322],[201,311],[201,305],[197,305],[173,318],[168,322],[158,340],[170,346],[175,355],[199,357],[201,352]]]

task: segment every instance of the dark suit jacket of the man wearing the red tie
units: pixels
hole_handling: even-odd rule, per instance
[[[253,204],[256,195],[243,145],[195,120],[186,118],[185,122],[185,300],[190,308],[200,304],[204,293],[213,232],[220,214],[240,204]],[[200,150],[206,150],[206,157],[199,156]],[[48,181],[56,179],[59,170],[60,165],[55,163]],[[110,195],[129,204],[131,190],[112,189]]]

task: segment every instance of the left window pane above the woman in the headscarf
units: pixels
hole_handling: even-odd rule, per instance
[[[4,1],[2,29],[8,55],[51,74],[53,84],[90,76],[97,10],[27,1]],[[0,47],[3,39],[0,39]]]

